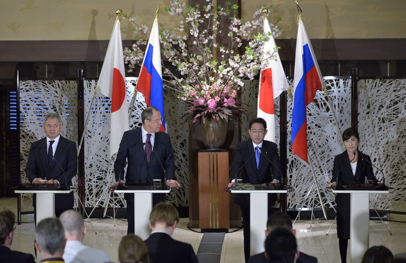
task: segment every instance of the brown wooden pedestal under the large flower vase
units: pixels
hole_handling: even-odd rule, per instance
[[[228,152],[198,153],[199,228],[230,228]]]

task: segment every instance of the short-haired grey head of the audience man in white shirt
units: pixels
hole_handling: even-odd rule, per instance
[[[66,240],[82,241],[86,234],[86,227],[83,216],[75,210],[64,211],[59,220],[65,231]]]

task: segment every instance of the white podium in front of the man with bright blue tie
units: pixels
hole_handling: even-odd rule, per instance
[[[232,194],[250,194],[250,255],[262,253],[268,220],[268,194],[286,194],[287,190],[276,190],[273,186],[252,185],[250,190],[233,190]]]

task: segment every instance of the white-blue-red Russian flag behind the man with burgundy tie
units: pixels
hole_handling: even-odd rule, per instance
[[[155,17],[147,44],[144,61],[137,82],[137,90],[144,94],[147,106],[156,107],[161,116],[160,131],[165,132],[165,110],[163,106],[163,84],[161,50],[159,46],[158,18]]]

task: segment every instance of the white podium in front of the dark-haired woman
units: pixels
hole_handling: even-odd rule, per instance
[[[350,194],[350,262],[361,262],[369,248],[369,194],[388,194],[388,190],[332,190],[334,194]]]

